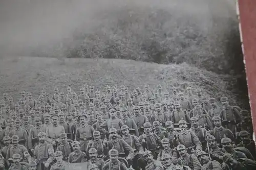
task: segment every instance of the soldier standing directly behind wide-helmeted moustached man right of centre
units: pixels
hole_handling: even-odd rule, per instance
[[[180,103],[174,103],[175,110],[171,113],[171,119],[174,124],[178,124],[181,119],[186,120],[186,122],[190,122],[190,116],[187,110],[180,108]]]

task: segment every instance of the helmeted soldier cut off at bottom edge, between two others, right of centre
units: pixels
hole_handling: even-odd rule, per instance
[[[222,170],[221,164],[216,160],[211,161],[206,152],[198,151],[197,156],[202,163],[201,170]]]

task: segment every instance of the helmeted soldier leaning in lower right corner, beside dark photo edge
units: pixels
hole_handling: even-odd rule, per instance
[[[224,151],[226,151],[226,153],[233,155],[237,159],[247,158],[247,156],[243,152],[234,150],[231,143],[232,141],[228,137],[224,137],[221,139],[222,147]]]

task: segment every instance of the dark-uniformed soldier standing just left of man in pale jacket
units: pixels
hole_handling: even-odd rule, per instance
[[[32,127],[28,136],[28,150],[34,153],[34,148],[39,144],[38,133],[46,132],[46,127],[41,125],[40,117],[35,117],[35,127]]]

